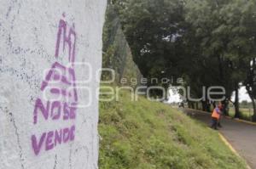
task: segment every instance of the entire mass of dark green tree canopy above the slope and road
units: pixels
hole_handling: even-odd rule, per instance
[[[196,98],[203,86],[223,86],[230,99],[243,82],[254,97],[249,91],[256,54],[254,0],[111,2],[144,77],[182,76]]]

